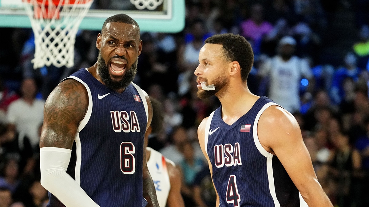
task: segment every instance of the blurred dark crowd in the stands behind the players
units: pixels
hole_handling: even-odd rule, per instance
[[[193,72],[204,40],[229,32],[244,36],[254,49],[251,92],[272,98],[296,117],[332,203],[369,206],[368,10],[367,0],[186,0],[182,32],[141,34],[134,82],[162,102],[164,113],[164,129],[149,138],[149,147],[180,168],[187,207],[215,206],[197,126],[220,103],[197,98]],[[332,59],[325,43],[346,41],[329,39],[339,11],[354,16],[354,39]],[[78,32],[72,68],[36,70],[32,30],[0,32],[0,207],[45,206],[38,147],[43,105],[59,81],[96,62],[99,31]]]

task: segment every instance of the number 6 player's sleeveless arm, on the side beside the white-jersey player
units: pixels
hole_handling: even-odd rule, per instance
[[[149,96],[146,94],[145,97],[149,111],[149,117],[146,126],[147,130],[152,120],[152,105]],[[144,198],[148,202],[147,206],[159,207],[158,199],[156,198],[154,182],[152,182],[152,178],[146,164],[146,147],[144,145],[142,145],[142,147],[144,148],[144,156],[142,156],[142,193]]]

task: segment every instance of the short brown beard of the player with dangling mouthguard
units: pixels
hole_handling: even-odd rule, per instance
[[[209,84],[207,80],[206,83]],[[220,98],[227,91],[229,81],[225,76],[220,76],[218,78],[215,78],[215,81],[211,84],[214,84],[215,90],[206,91],[203,90],[202,88],[199,88],[197,91],[197,97],[199,97],[200,99],[205,99],[211,97],[212,95],[216,95],[218,98]]]

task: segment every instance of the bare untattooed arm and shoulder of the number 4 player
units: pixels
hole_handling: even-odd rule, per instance
[[[308,206],[332,206],[318,183],[310,154],[294,117],[279,106],[270,106],[258,122],[263,148],[275,154]]]

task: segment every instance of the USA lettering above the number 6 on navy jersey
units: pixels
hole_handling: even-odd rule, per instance
[[[115,132],[141,132],[135,111],[110,111]]]

